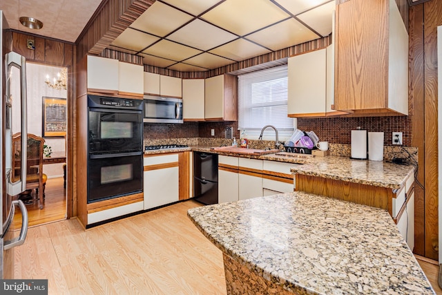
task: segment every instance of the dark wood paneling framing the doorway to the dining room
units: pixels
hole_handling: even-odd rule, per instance
[[[35,50],[27,48],[28,40],[35,43]],[[12,32],[12,50],[26,57],[26,61],[35,62],[37,64],[46,64],[50,66],[64,66],[68,68],[68,149],[66,149],[67,156],[67,198],[68,198],[68,218],[75,216],[75,208],[73,207],[73,196],[75,184],[73,182],[73,149],[71,142],[73,142],[73,97],[74,97],[74,67],[75,64],[75,45],[69,42],[49,39],[37,35],[23,34],[22,32]],[[42,81],[43,82],[43,81]],[[28,110],[30,115],[32,110]]]

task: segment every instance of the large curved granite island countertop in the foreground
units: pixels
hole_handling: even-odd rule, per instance
[[[238,263],[301,294],[435,294],[387,211],[294,192],[190,209]]]

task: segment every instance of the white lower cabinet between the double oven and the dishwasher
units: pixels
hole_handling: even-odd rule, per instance
[[[178,154],[144,158],[144,209],[177,202],[180,196]]]

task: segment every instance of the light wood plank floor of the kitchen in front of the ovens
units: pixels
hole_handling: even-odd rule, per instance
[[[15,249],[15,278],[46,278],[49,294],[226,294],[221,251],[186,216],[197,206],[182,202],[87,231],[76,219],[33,227]],[[417,258],[442,295],[436,262]]]

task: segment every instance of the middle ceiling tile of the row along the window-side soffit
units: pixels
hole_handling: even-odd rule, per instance
[[[231,41],[228,44],[209,51],[209,53],[221,55],[222,57],[227,57],[236,61],[242,61],[244,59],[264,55],[270,52],[270,50],[244,39]]]

